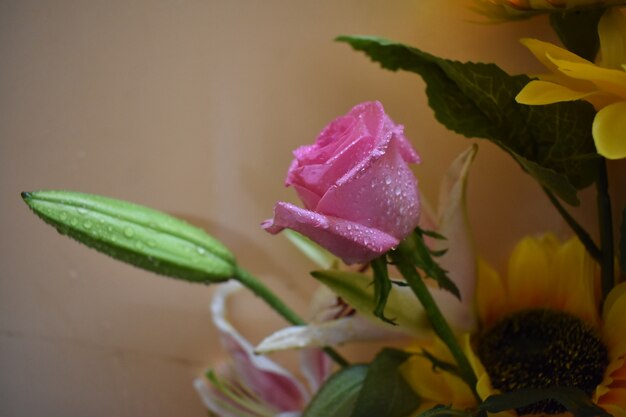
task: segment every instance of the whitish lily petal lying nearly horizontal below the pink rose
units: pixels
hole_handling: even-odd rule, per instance
[[[255,350],[259,353],[270,353],[285,349],[334,346],[346,342],[401,339],[408,336],[398,332],[398,329],[399,327],[377,324],[362,316],[354,315],[324,323],[281,329],[263,339]]]

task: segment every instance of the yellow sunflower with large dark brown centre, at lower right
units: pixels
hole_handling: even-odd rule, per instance
[[[480,329],[464,335],[483,399],[522,388],[577,387],[615,417],[626,416],[626,284],[609,294],[598,312],[597,266],[577,239],[525,238],[514,249],[507,275],[479,266],[476,311]],[[449,360],[439,342],[420,345]],[[403,373],[424,398],[422,409],[476,405],[455,376],[433,370],[420,356]],[[544,401],[498,416],[569,416]]]

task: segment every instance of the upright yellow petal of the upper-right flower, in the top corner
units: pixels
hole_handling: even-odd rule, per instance
[[[599,65],[620,69],[626,63],[626,18],[617,8],[607,9],[598,23]]]

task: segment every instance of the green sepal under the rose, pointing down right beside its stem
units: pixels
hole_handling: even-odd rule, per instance
[[[430,232],[428,232],[430,233]],[[446,291],[451,292],[456,298],[461,299],[461,293],[456,284],[448,277],[447,271],[439,266],[435,261],[426,242],[424,242],[424,235],[426,233],[419,227],[415,229],[412,235],[409,235],[404,244],[407,246],[407,256],[411,259],[413,265],[424,271],[427,277],[437,281],[439,287]]]

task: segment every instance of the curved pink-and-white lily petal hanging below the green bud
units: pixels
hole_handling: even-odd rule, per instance
[[[235,330],[226,317],[226,300],[240,288],[241,285],[235,281],[220,285],[211,303],[213,323],[232,359],[237,378],[265,403],[279,410],[299,410],[308,400],[306,389],[289,371],[255,354],[250,342]]]

